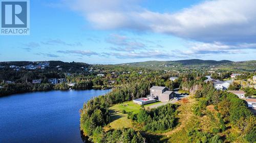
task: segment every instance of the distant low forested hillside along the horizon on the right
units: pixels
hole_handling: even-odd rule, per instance
[[[179,60],[179,61],[146,61],[125,63],[120,65],[145,67],[164,70],[228,70],[228,71],[256,71],[256,61],[232,62],[228,60]]]

